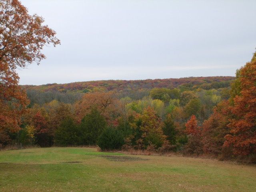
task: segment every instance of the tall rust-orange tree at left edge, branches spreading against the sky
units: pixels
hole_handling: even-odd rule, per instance
[[[20,117],[28,105],[18,86],[16,68],[46,58],[45,44],[60,44],[55,32],[43,25],[44,19],[29,15],[18,0],[0,0],[0,129],[19,130]]]

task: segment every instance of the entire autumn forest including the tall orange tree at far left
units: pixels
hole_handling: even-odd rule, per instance
[[[256,52],[236,77],[19,85],[60,44],[44,18],[0,0],[0,148],[99,146],[256,162]]]

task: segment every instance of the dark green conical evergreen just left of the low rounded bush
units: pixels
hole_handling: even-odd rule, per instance
[[[107,122],[100,111],[97,108],[92,108],[90,113],[84,116],[80,124],[84,144],[95,145],[106,125]]]

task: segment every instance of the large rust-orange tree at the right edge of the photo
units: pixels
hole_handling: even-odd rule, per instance
[[[235,155],[256,154],[256,61],[239,70],[240,94],[234,97],[230,134],[225,136],[224,146],[231,146]]]

